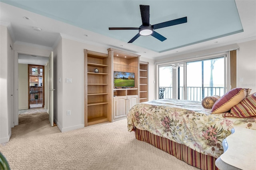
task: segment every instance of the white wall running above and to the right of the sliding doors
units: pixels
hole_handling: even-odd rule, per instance
[[[237,87],[250,88],[251,93],[256,92],[256,40],[226,45],[214,49],[207,49],[193,53],[186,53],[182,55],[175,55],[156,60],[156,63],[177,61],[191,57],[198,57],[200,55],[207,55],[218,53],[222,51],[229,51],[232,49],[239,49],[237,52]],[[243,78],[243,82],[239,82],[239,78]]]

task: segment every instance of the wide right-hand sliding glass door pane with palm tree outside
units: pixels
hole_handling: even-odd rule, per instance
[[[186,98],[202,101],[206,96],[224,94],[224,57],[186,63]]]

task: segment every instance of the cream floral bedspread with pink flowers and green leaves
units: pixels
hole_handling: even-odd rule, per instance
[[[201,102],[159,99],[134,105],[128,113],[128,131],[134,127],[184,144],[197,152],[218,158],[222,141],[233,127],[256,130],[256,117],[233,118],[210,114]]]

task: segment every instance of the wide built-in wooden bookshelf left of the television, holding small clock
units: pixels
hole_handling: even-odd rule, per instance
[[[84,126],[111,122],[111,57],[105,53],[84,49],[84,65]]]

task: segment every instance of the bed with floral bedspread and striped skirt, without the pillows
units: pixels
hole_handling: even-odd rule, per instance
[[[198,101],[158,99],[134,105],[128,131],[176,158],[202,170],[215,170],[223,153],[222,141],[233,127],[256,129],[256,117],[212,114]]]

